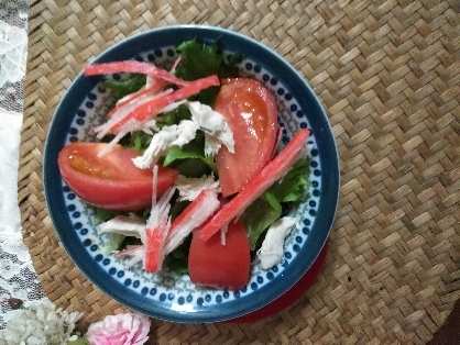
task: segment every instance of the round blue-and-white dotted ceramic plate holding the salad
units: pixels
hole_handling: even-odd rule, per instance
[[[96,141],[92,129],[101,123],[108,103],[112,102],[109,91],[100,87],[101,78],[79,75],[74,80],[53,118],[44,158],[48,210],[62,243],[79,269],[122,304],[153,318],[187,323],[234,319],[286,292],[308,270],[326,243],[339,193],[336,143],[320,102],[291,65],[256,41],[218,27],[167,26],[124,40],[95,63],[139,59],[167,66],[176,58],[174,47],[195,37],[206,42],[220,37],[224,54],[244,54],[241,73],[262,81],[276,98],[278,122],[284,127],[281,147],[298,129],[311,130],[311,197],[294,212],[300,226],[286,238],[282,263],[263,270],[254,259],[248,286],[239,291],[222,291],[195,287],[188,276],[167,271],[153,275],[140,266],[127,269],[122,259],[106,253],[107,238],[98,234],[92,211],[64,183],[57,166],[57,155],[68,143]]]

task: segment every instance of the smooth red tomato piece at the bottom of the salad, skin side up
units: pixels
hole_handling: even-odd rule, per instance
[[[204,241],[195,231],[188,254],[188,274],[191,282],[217,289],[239,290],[249,279],[251,255],[248,234],[242,222],[231,222],[226,245],[220,236]]]

